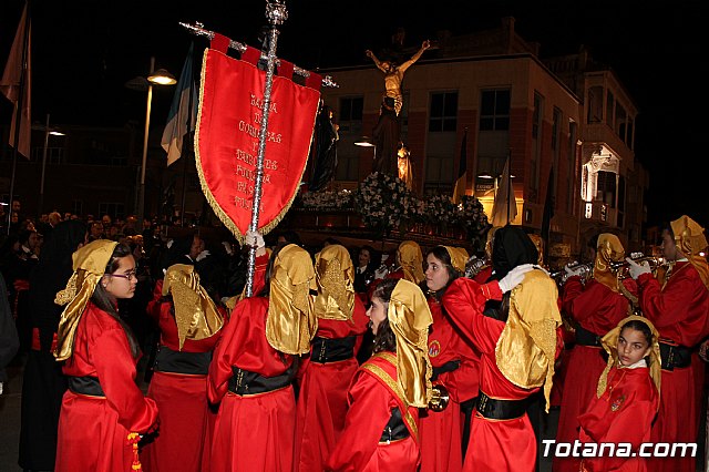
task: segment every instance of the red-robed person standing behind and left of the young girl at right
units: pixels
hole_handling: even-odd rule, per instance
[[[623,263],[625,249],[616,235],[603,233],[597,239],[593,278],[585,283],[579,275],[571,275],[563,285],[562,311],[574,326],[575,342],[567,365],[556,442],[574,442],[578,438],[578,415],[588,407],[596,392],[596,379],[606,367],[602,357],[600,338],[628,315],[630,300],[624,295],[631,279],[619,280],[610,263]],[[579,268],[566,268],[567,274],[577,274]],[[585,284],[585,285],[584,285]],[[555,472],[576,472],[580,458],[557,456],[553,459]]]

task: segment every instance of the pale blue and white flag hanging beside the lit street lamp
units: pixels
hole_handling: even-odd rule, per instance
[[[182,142],[185,134],[195,130],[197,122],[197,91],[192,73],[192,51],[194,43],[189,44],[187,59],[182,66],[175,96],[167,113],[167,124],[163,132],[161,145],[167,153],[167,165],[171,165],[182,156]],[[189,123],[189,129],[187,129]]]

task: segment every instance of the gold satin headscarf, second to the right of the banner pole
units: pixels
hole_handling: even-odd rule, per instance
[[[331,244],[316,254],[315,278],[318,285],[312,307],[316,317],[351,320],[354,309],[354,266],[345,246]]]

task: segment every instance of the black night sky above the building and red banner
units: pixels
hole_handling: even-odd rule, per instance
[[[22,6],[22,0],[1,2],[1,64]],[[515,18],[518,34],[541,43],[542,59],[574,53],[585,44],[618,73],[638,106],[636,157],[650,171],[648,223],[688,214],[709,225],[709,198],[703,196],[709,135],[706,2],[436,0],[422,7],[386,0],[298,0],[286,6],[288,20],[279,29],[277,53],[304,69],[371,63],[364,50],[388,45],[398,27],[407,31],[405,45],[417,48],[440,30],[462,34],[496,28],[507,16]],[[156,68],[177,75],[189,42],[195,41],[196,50],[207,45],[179,21],[201,21],[206,29],[259,47],[265,9],[265,1],[251,0],[34,0],[32,117],[43,122],[50,113],[53,123],[142,123],[145,95],[124,83],[147,74],[151,55]],[[169,88],[154,90],[153,122],[166,119],[172,94]],[[10,120],[6,105],[0,105],[3,123]]]

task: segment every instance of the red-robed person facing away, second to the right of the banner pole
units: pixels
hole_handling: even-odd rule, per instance
[[[354,294],[354,267],[347,248],[326,246],[316,255],[315,267],[318,331],[298,376],[295,470],[302,472],[323,469],[345,428],[347,389],[359,368],[354,353],[369,322]]]

